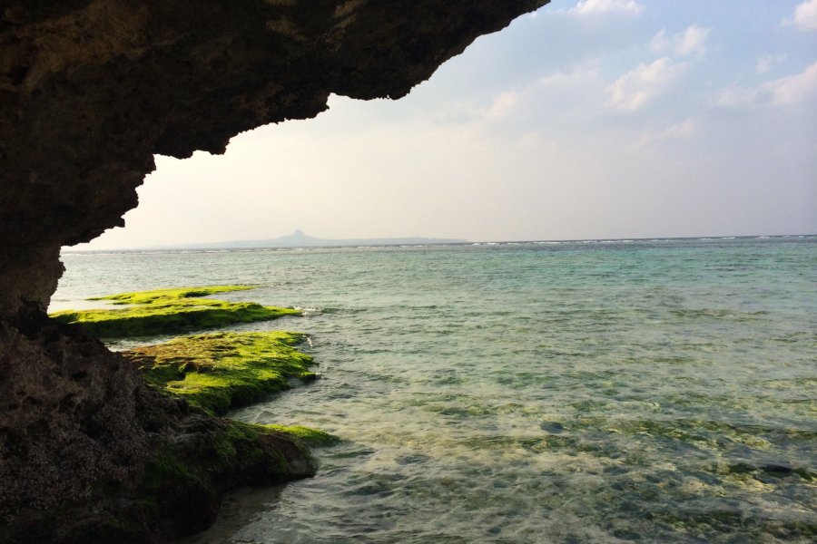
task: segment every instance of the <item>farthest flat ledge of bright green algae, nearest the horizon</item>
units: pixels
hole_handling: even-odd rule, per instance
[[[103,338],[162,335],[215,328],[236,323],[267,321],[281,316],[300,316],[300,310],[261,306],[254,302],[228,302],[202,298],[216,293],[242,291],[253,286],[178,287],[99,296],[123,308],[65,310],[51,314],[57,321],[81,324]]]

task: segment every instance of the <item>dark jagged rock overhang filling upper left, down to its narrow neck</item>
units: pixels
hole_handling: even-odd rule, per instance
[[[333,92],[402,97],[546,3],[0,2],[0,277],[27,268],[43,286],[8,289],[0,314],[44,310],[58,248],[122,226],[154,154],[221,153],[241,131],[314,117]]]

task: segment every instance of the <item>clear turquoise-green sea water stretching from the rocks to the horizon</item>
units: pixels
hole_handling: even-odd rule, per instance
[[[52,310],[225,283],[305,310],[231,328],[309,334],[322,379],[234,416],[344,442],[313,479],[231,496],[191,542],[817,533],[817,237],[63,259]]]

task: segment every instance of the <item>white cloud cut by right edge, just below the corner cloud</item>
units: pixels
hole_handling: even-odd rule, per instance
[[[763,83],[755,88],[733,86],[718,92],[714,97],[717,106],[747,108],[759,104],[790,106],[817,98],[817,63],[812,63],[802,73]]]

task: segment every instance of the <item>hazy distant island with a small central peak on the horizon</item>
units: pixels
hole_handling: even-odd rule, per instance
[[[173,248],[339,248],[349,246],[425,246],[429,244],[464,244],[467,242],[468,240],[460,238],[315,238],[302,230],[296,230],[292,234],[280,238],[180,244],[173,246]]]

